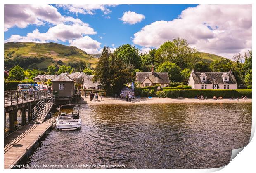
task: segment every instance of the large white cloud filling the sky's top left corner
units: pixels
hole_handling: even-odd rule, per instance
[[[30,24],[37,26],[45,23],[83,23],[80,19],[62,16],[52,5],[5,5],[5,31],[13,26],[26,28]]]

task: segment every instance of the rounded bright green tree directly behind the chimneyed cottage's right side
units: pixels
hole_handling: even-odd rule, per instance
[[[167,72],[171,82],[181,82],[183,77],[181,76],[181,68],[175,63],[166,61],[158,66],[157,72]]]

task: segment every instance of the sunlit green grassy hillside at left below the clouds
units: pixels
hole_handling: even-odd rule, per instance
[[[97,59],[87,54],[85,51],[74,46],[65,46],[57,43],[33,43],[33,42],[8,42],[5,43],[5,59],[15,57],[37,57],[44,58],[44,61],[36,64],[38,68],[46,68],[49,65],[57,64],[61,60],[64,65],[69,62],[83,60],[95,66]]]

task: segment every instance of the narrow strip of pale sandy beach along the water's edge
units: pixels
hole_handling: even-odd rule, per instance
[[[195,98],[134,98],[131,102],[127,102],[125,98],[114,98],[114,97],[103,97],[102,101],[99,98],[99,101],[90,101],[90,97],[82,96],[81,101],[86,101],[88,105],[99,105],[99,104],[164,104],[164,103],[237,103],[237,99],[229,100],[228,98],[223,98],[221,100],[213,100],[208,98],[207,100],[199,100]],[[239,99],[239,103],[251,103],[251,98],[247,100]]]

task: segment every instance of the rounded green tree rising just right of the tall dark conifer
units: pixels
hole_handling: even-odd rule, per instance
[[[123,61],[126,66],[133,65],[140,68],[139,49],[130,44],[123,44],[114,51],[115,57]]]

